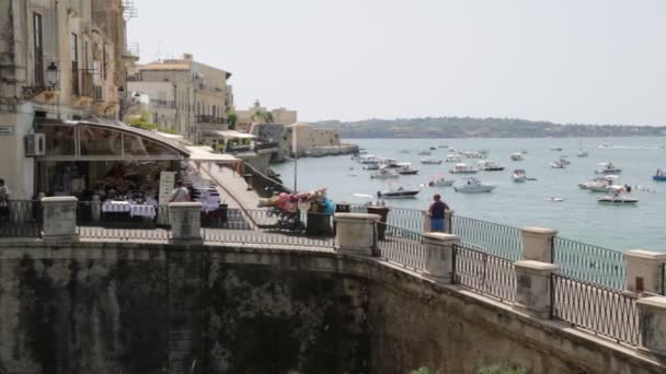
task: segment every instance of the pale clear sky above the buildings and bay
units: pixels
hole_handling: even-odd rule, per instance
[[[194,54],[306,121],[666,126],[664,0],[135,0],[141,62]]]

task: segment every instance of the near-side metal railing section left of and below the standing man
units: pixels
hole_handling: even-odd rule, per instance
[[[426,248],[423,235],[381,222],[375,223],[377,255],[414,270],[425,270]]]

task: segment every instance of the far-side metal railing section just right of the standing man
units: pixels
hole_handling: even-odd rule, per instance
[[[451,221],[451,233],[463,245],[514,261],[523,259],[520,229],[460,215],[453,215]]]

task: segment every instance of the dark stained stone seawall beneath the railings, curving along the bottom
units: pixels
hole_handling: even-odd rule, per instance
[[[0,243],[0,373],[662,373],[608,340],[371,258]]]

